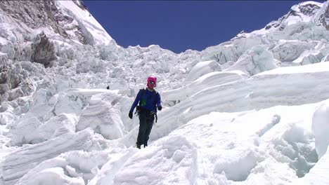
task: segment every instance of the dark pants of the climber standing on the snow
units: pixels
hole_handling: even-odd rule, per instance
[[[150,136],[150,130],[152,129],[154,122],[154,115],[150,114],[150,111],[140,111],[139,114],[139,132],[137,137],[137,146],[148,146],[148,138]]]

